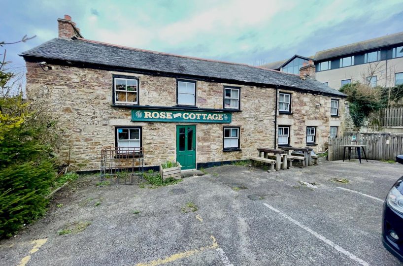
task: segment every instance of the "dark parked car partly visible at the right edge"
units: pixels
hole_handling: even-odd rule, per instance
[[[396,157],[403,164],[403,155]],[[396,181],[383,204],[383,246],[403,262],[403,176]]]

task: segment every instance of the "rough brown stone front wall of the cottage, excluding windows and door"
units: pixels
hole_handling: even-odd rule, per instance
[[[63,139],[60,160],[69,158],[73,169],[98,169],[101,148],[115,145],[116,126],[142,126],[147,166],[175,158],[177,123],[134,123],[129,108],[111,106],[112,74],[138,77],[139,104],[151,106],[176,105],[175,78],[55,65],[45,72],[30,62],[27,70],[28,98],[47,105],[59,121]],[[197,81],[197,106],[223,108],[223,85],[237,86]],[[292,123],[292,145],[304,146],[305,125],[313,121],[318,124],[317,143],[327,141],[330,123],[340,124],[343,113],[340,118],[330,118],[329,97],[292,93],[294,114],[279,116]],[[321,106],[316,107],[317,102]],[[275,90],[241,86],[240,104],[242,111],[233,113],[229,126],[240,126],[241,151],[223,152],[223,127],[227,124],[198,123],[197,163],[246,159],[257,155],[258,147],[274,146]],[[340,110],[342,106],[340,100]]]

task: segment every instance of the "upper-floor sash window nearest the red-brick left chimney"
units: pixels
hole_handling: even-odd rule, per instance
[[[138,104],[138,79],[113,76],[114,103]]]

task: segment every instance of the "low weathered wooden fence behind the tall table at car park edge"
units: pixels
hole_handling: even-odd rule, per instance
[[[342,137],[329,138],[329,161],[343,159],[342,145],[365,145],[365,153],[370,160],[396,160],[396,156],[403,154],[403,134],[360,134],[356,133],[356,141],[352,141],[352,134]],[[346,157],[348,156],[346,150]],[[351,153],[356,158],[357,153]],[[364,153],[362,152],[364,158]]]

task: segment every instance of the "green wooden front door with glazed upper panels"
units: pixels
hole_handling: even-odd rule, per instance
[[[176,126],[176,161],[182,170],[196,168],[196,126]]]

